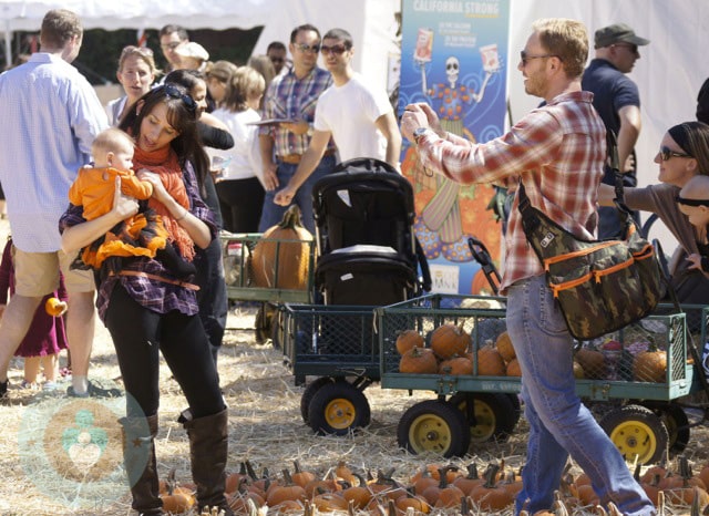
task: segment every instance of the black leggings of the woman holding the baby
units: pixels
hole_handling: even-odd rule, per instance
[[[224,410],[216,367],[199,316],[147,310],[116,285],[105,323],[113,338],[125,390],[145,416],[155,415],[160,405],[158,351],[163,352],[195,419]],[[143,415],[134,411],[129,403],[129,416]]]

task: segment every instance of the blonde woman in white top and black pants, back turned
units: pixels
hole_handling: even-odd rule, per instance
[[[217,178],[217,195],[224,218],[224,228],[232,233],[256,233],[264,206],[261,184],[261,159],[258,147],[258,103],[264,95],[266,81],[250,66],[240,66],[227,82],[226,94],[212,114],[224,122],[232,136],[234,147],[229,151],[210,152],[226,159]]]

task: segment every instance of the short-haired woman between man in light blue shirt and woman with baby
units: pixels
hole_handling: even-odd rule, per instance
[[[158,73],[151,49],[134,45],[123,49],[115,76],[123,86],[125,95],[106,104],[109,124],[119,125],[131,105],[151,90]]]

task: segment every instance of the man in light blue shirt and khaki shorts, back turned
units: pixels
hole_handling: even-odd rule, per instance
[[[72,357],[69,394],[89,395],[95,286],[90,271],[70,270],[61,251],[59,218],[69,187],[90,161],[91,144],[107,127],[93,87],[70,63],[83,38],[71,11],[49,11],[41,51],[0,75],[0,182],[14,244],[16,293],[0,322],[0,398],[7,396],[8,367],[43,296],[59,286],[60,267],[69,292],[66,333]]]

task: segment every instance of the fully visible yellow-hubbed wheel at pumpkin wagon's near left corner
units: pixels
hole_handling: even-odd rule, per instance
[[[429,400],[404,412],[397,429],[397,440],[400,447],[411,453],[462,456],[470,447],[470,427],[460,410],[445,402]]]

